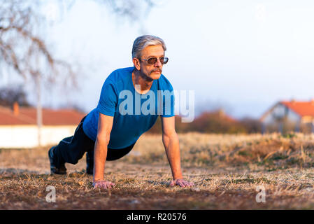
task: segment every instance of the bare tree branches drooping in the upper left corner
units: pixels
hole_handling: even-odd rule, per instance
[[[34,10],[36,7],[36,1],[19,0],[0,5],[0,59],[24,78],[41,75],[51,83],[51,73],[58,75],[57,71],[63,69],[63,76],[75,83],[71,65],[56,59],[45,40],[36,34],[37,21],[41,19]],[[36,63],[37,58],[41,58],[41,64]]]

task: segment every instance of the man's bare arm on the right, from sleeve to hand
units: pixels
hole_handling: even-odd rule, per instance
[[[194,186],[194,183],[190,183],[183,180],[180,165],[180,147],[179,138],[175,129],[175,116],[170,118],[162,118],[162,142],[166,150],[166,155],[171,167],[173,181],[170,185],[178,185],[181,187]]]

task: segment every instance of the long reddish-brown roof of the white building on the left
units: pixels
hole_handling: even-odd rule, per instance
[[[78,125],[84,116],[73,109],[43,109],[43,125]],[[12,109],[0,106],[0,125],[36,124],[36,108],[20,107],[15,115]]]

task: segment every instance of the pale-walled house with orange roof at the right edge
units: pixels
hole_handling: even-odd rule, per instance
[[[260,120],[264,132],[314,132],[314,100],[278,102]]]

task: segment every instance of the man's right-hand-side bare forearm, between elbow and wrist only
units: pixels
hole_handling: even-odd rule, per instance
[[[180,146],[178,134],[172,136],[162,136],[166,155],[171,167],[173,179],[183,179],[180,164]]]

